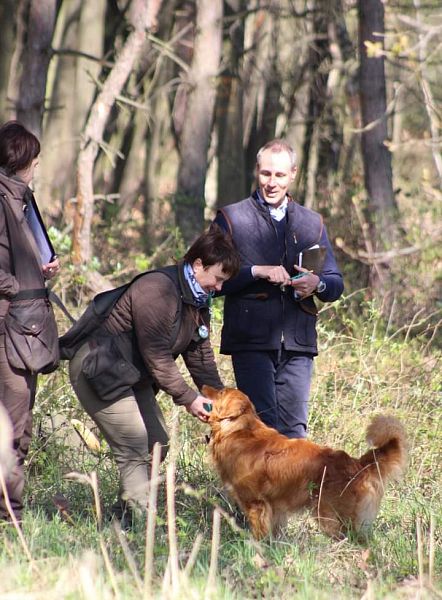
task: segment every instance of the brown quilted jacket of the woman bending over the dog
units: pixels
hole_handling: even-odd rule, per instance
[[[198,327],[209,326],[208,309],[198,309],[183,275],[176,266],[177,285],[161,272],[139,277],[118,300],[105,329],[118,334],[133,329],[143,362],[158,387],[179,405],[190,404],[197,392],[186,383],[175,358],[182,355],[195,385],[223,387],[209,339],[198,336]],[[173,334],[178,302],[182,302],[178,335]],[[176,341],[171,344],[172,337]]]

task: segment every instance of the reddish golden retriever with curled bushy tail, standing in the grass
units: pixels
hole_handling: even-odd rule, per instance
[[[374,521],[388,481],[405,469],[405,431],[394,417],[374,417],[367,430],[372,450],[352,458],[267,427],[239,390],[203,386],[202,392],[213,402],[209,447],[215,466],[256,539],[277,533],[290,513],[304,507],[330,536],[362,532]]]

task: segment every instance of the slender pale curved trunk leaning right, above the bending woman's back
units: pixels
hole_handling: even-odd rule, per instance
[[[114,105],[137,60],[146,39],[146,29],[156,21],[148,0],[132,3],[131,22],[134,30],[127,38],[115,66],[110,71],[102,90],[94,102],[83,134],[77,164],[77,206],[74,218],[72,256],[74,264],[87,263],[92,257],[91,224],[94,206],[94,162],[103,140],[103,132]],[[155,2],[157,9],[160,3]],[[149,10],[150,9],[150,10]]]

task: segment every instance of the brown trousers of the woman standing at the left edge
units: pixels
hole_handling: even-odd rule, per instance
[[[5,336],[0,335],[0,403],[13,427],[13,444],[17,463],[6,480],[9,501],[18,520],[23,510],[25,482],[24,461],[32,436],[32,407],[34,405],[37,375],[10,367],[5,353]],[[0,489],[0,520],[10,520],[3,493]]]

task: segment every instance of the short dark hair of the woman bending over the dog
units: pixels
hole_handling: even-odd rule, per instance
[[[203,267],[221,263],[223,272],[230,277],[239,271],[240,257],[232,238],[215,223],[193,242],[184,255],[184,260],[189,264],[193,264],[197,258],[201,259]]]

